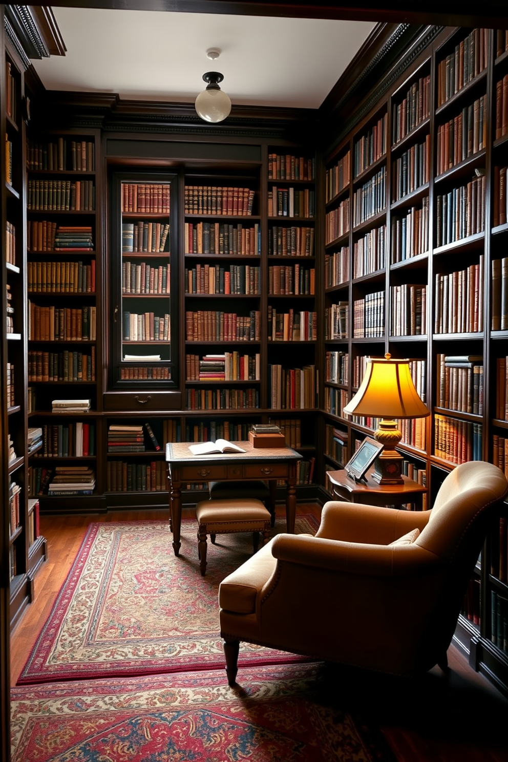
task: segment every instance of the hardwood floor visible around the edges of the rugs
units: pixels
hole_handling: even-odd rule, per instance
[[[317,517],[320,514],[317,504],[299,504],[297,510]],[[277,507],[279,511],[282,513],[283,507]],[[193,515],[193,511],[184,508],[184,515]],[[35,578],[34,603],[11,636],[11,685],[16,684],[50,613],[88,524],[166,518],[168,511],[40,518],[49,559]],[[449,674],[434,668],[419,680],[372,676],[340,666],[330,668],[327,700],[378,725],[398,762],[508,762],[508,700],[472,671],[456,648],[450,647],[448,655]]]

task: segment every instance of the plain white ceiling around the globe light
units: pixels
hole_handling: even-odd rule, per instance
[[[193,102],[222,72],[233,104],[318,108],[375,24],[53,8],[67,53],[34,60],[50,90]],[[218,60],[206,57],[219,48]]]

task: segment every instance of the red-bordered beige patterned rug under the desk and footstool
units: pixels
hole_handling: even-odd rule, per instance
[[[297,517],[296,533],[316,529]],[[252,535],[209,542],[202,577],[196,530],[182,520],[176,558],[167,521],[92,523],[18,685],[222,668],[219,583],[251,555]],[[302,660],[242,643],[238,664],[288,661]]]

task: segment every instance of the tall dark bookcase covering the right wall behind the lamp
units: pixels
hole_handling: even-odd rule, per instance
[[[398,448],[404,473],[429,487],[426,506],[458,463],[490,460],[508,474],[507,51],[504,32],[446,30],[387,94],[372,96],[369,112],[325,158],[329,492],[327,471],[376,425],[344,417],[343,405],[366,356],[387,351],[411,360],[432,411],[401,422]],[[506,515],[505,504],[455,633],[471,665],[505,691]]]

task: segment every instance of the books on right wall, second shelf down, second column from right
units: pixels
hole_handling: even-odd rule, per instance
[[[464,162],[487,145],[487,95],[437,128],[437,174]]]

